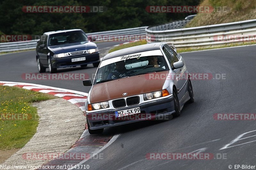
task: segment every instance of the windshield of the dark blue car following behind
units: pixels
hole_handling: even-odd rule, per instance
[[[54,46],[84,41],[88,41],[88,37],[85,35],[83,31],[77,30],[50,34],[48,44],[49,46]]]

